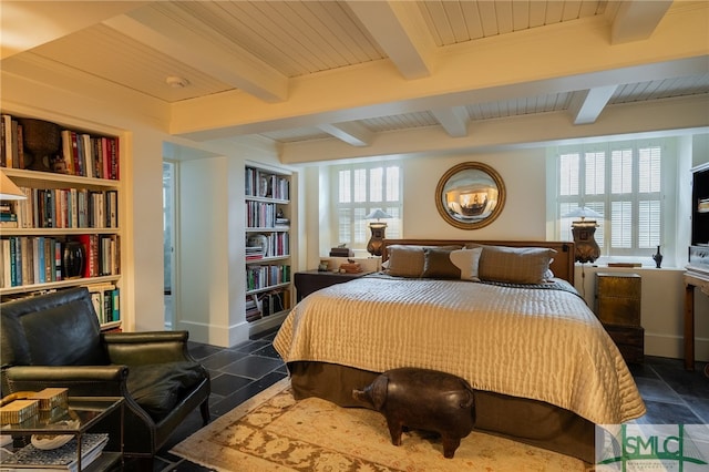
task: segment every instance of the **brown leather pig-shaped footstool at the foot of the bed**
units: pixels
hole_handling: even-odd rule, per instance
[[[443,455],[453,458],[475,423],[473,389],[460,377],[436,370],[388,370],[362,390],[356,400],[368,403],[387,419],[391,442],[401,445],[403,428],[441,434]]]

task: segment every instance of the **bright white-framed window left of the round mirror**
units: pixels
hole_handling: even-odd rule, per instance
[[[360,163],[332,167],[337,205],[332,218],[337,244],[363,249],[371,234],[364,215],[381,208],[392,216],[387,220],[387,237],[401,236],[401,166],[398,163]]]

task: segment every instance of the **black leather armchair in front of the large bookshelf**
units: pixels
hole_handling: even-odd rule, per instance
[[[187,331],[101,334],[86,288],[4,302],[0,320],[2,396],[123,397],[129,458],[152,459],[197,407],[209,421],[209,373],[187,352]]]

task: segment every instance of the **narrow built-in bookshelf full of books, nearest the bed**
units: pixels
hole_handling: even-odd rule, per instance
[[[245,316],[249,336],[275,328],[292,306],[291,174],[245,168]]]

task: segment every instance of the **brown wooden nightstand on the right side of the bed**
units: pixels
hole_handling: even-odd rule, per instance
[[[626,362],[645,360],[645,329],[640,326],[641,281],[637,274],[596,274],[596,316]]]

